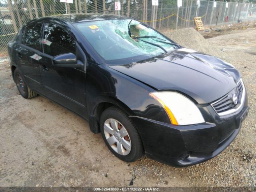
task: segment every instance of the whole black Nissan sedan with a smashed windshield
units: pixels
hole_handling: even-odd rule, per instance
[[[222,152],[248,114],[240,73],[131,18],[68,14],[24,25],[8,44],[20,94],[89,121],[110,151],[172,166]],[[97,150],[97,149],[95,149]]]

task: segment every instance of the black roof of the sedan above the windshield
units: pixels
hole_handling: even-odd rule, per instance
[[[114,14],[95,14],[95,13],[83,13],[83,14],[64,14],[64,15],[54,15],[40,18],[44,19],[58,19],[64,22],[77,23],[77,22],[87,22],[87,21],[98,21],[98,20],[116,20],[116,19],[129,19],[125,16],[114,15]]]

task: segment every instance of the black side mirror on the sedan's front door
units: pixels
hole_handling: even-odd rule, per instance
[[[81,68],[84,66],[82,62],[76,59],[76,56],[73,53],[65,53],[55,56],[53,58],[53,64],[57,67],[66,68]]]

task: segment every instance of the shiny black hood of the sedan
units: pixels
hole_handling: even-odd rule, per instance
[[[186,48],[110,68],[156,90],[183,92],[199,104],[210,103],[224,96],[240,80],[240,73],[230,64]]]

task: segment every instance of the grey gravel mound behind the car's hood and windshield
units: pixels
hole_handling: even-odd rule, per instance
[[[204,37],[193,28],[179,29],[164,34],[186,48],[219,57],[222,54],[219,48],[206,41]]]

